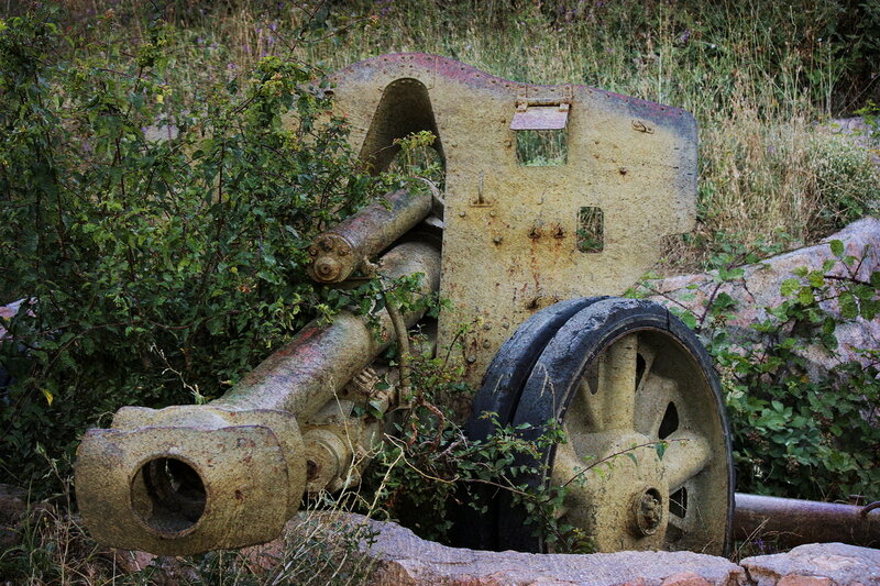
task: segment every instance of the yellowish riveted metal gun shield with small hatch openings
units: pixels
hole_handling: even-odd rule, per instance
[[[332,77],[351,141],[377,168],[393,141],[430,130],[446,164],[440,345],[458,327],[474,386],[517,324],[571,297],[619,294],[691,230],[696,123],[686,112],[585,86],[532,86],[426,54],[375,57]],[[517,106],[570,103],[566,164],[517,163]],[[539,121],[540,122],[540,121]],[[536,125],[546,125],[543,122]],[[554,122],[550,125],[559,125]],[[600,208],[602,252],[578,246],[579,213]]]

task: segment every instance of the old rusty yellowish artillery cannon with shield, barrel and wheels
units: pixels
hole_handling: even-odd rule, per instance
[[[463,341],[465,378],[481,389],[469,434],[491,433],[477,416],[493,411],[534,429],[557,420],[569,438],[543,454],[548,472],[531,484],[566,484],[585,458],[631,450],[632,461],[571,484],[561,511],[601,551],[724,552],[733,465],[710,360],[660,306],[596,297],[622,292],[657,261],[663,236],[692,228],[693,118],[424,54],[373,58],[333,81],[351,141],[376,169],[392,163],[396,139],[437,136],[443,212],[435,215],[430,196],[387,196],[315,241],[314,278],[342,283],[381,255],[385,276],[421,274],[422,292],[451,301],[437,345],[449,345],[458,324],[477,323]],[[550,133],[557,152],[531,163],[564,164],[518,161],[534,133]],[[382,421],[355,406],[398,400],[371,365],[419,318],[388,307],[377,338],[343,312],[306,327],[209,405],[121,409],[79,447],[87,527],[113,546],[162,554],[275,538],[304,493],[358,482]],[[479,545],[542,550],[519,512],[497,510],[479,521]]]

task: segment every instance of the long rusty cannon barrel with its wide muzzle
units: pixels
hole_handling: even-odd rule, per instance
[[[403,203],[391,210],[411,215],[404,195],[394,197]],[[386,220],[366,208],[349,225],[369,230]],[[384,250],[411,221],[395,225],[360,252]],[[346,235],[344,226],[334,233]],[[405,242],[378,270],[388,279],[421,274],[418,292],[430,295],[439,288],[440,252]],[[161,555],[274,539],[306,490],[356,482],[354,454],[381,432],[356,417],[345,394],[351,386],[372,392],[367,367],[400,335],[400,318],[408,328],[420,317],[383,309],[367,321],[342,311],[330,324],[306,325],[208,405],[120,409],[111,429],[87,431],[77,451],[76,495],[89,532],[107,545]]]

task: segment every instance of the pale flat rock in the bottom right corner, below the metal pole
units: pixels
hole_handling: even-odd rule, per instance
[[[880,585],[880,550],[844,543],[811,543],[788,553],[746,557],[740,565],[756,586],[810,584],[795,577],[828,578],[839,586]]]

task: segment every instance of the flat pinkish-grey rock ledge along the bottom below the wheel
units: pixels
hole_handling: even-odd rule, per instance
[[[395,523],[330,512],[300,516],[288,523],[285,537],[251,548],[248,555],[271,570],[292,540],[302,535],[315,539],[316,523],[324,528],[320,535],[323,540],[346,541],[352,533],[361,535],[356,548],[373,570],[365,583],[369,586],[880,585],[880,550],[843,543],[801,545],[788,553],[747,557],[739,564],[692,552],[486,552],[447,548],[419,539]],[[150,555],[127,555],[132,570],[163,564]]]

